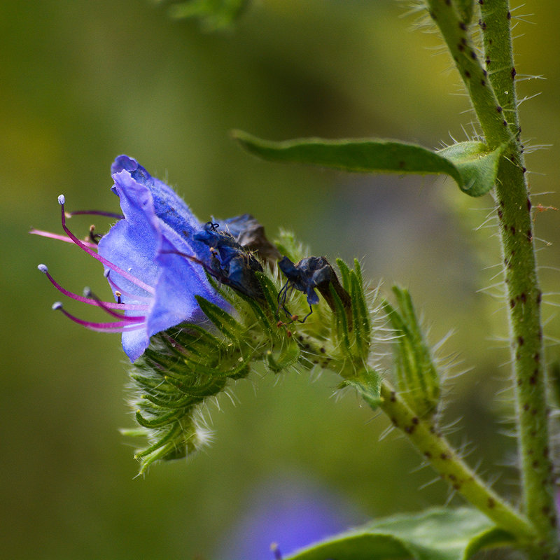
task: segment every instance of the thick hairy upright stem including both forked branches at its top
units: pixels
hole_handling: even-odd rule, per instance
[[[461,22],[453,2],[428,0],[427,3],[470,94],[486,144],[491,147],[507,145],[498,169],[496,198],[516,387],[523,503],[524,512],[538,533],[538,547],[532,551],[534,557],[552,557],[559,545],[549,457],[541,293],[533,247],[531,201],[519,143],[521,129],[509,2],[479,1],[486,68],[479,63],[468,26]]]

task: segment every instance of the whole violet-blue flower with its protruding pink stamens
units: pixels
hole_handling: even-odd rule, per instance
[[[97,246],[94,237],[91,242],[84,242],[73,235],[66,226],[64,197],[59,197],[59,204],[66,235],[103,263],[116,302],[70,293],[50,276],[45,265],[39,269],[65,295],[102,307],[118,318],[108,323],[92,323],[69,314],[62,304],[53,306],[92,330],[122,332],[123,349],[134,362],[144,353],[152,335],[180,323],[205,320],[196,295],[224,309],[228,309],[228,304],[207,280],[205,268],[211,262],[211,249],[196,241],[195,233],[202,225],[185,202],[126,155],[116,158],[111,175],[115,183],[111,190],[119,197],[123,216]],[[57,235],[33,232],[60,239]]]

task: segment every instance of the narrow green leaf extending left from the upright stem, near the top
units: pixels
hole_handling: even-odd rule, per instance
[[[484,195],[493,187],[505,147],[488,151],[482,142],[468,141],[434,152],[395,140],[309,138],[273,142],[239,130],[232,134],[247,151],[265,160],[358,173],[446,174],[472,197]]]

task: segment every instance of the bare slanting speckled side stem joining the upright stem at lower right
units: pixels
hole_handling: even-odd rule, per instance
[[[521,545],[534,542],[535,530],[530,521],[486,486],[456,454],[435,425],[416,416],[386,381],[381,382],[379,406],[454,490],[498,527],[514,535]]]

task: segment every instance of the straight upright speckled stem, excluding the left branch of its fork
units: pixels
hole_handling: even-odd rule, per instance
[[[558,551],[554,476],[549,456],[548,408],[542,323],[541,292],[538,286],[531,200],[519,144],[519,113],[515,87],[507,0],[484,2],[480,6],[486,66],[510,130],[516,136],[498,169],[496,197],[504,259],[510,344],[514,368],[519,454],[524,510],[539,536]],[[547,554],[543,552],[542,556]]]

